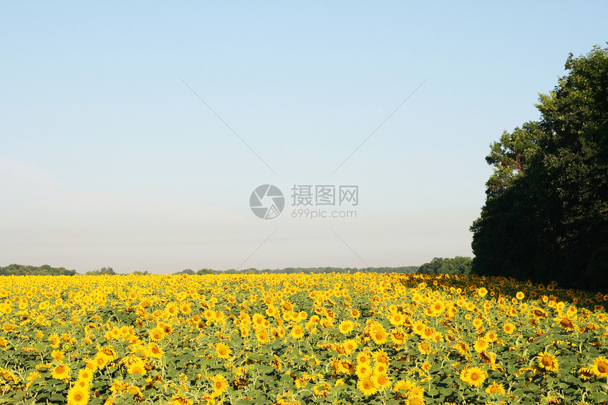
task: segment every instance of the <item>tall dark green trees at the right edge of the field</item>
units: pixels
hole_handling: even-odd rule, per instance
[[[566,70],[554,91],[540,95],[537,125],[514,131],[524,138],[518,145],[530,146],[523,169],[505,176],[502,189],[488,182],[471,227],[477,274],[608,288],[608,47],[571,54]],[[508,155],[491,147],[486,160],[496,177],[513,167]]]

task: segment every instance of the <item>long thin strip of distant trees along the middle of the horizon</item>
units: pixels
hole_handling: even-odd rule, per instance
[[[211,269],[200,269],[194,271],[192,269],[185,269],[178,271],[174,274],[328,274],[328,273],[356,273],[358,271],[370,272],[370,273],[416,273],[419,266],[402,266],[402,267],[366,267],[358,269],[356,267],[286,267],[285,269],[263,269],[258,270],[255,268],[244,269],[244,270],[211,270]]]

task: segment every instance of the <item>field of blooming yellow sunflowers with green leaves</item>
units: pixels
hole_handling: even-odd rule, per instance
[[[477,276],[8,276],[0,401],[602,404],[606,300]]]

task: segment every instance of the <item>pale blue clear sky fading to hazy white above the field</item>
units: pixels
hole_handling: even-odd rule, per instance
[[[606,16],[606,1],[3,1],[0,266],[471,256],[489,144],[539,118]],[[276,218],[250,209],[261,184],[284,194]],[[316,205],[317,186],[357,186],[358,204]]]

